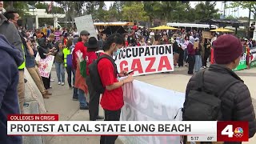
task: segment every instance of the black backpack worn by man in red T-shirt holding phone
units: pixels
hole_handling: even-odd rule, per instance
[[[94,60],[94,62],[92,62],[89,66],[89,72],[90,72],[90,82],[91,85],[94,86],[94,90],[100,94],[103,94],[106,90],[106,87],[104,87],[102,85],[102,80],[98,74],[98,62],[102,59],[102,58],[107,58],[110,60],[110,62],[112,62],[113,66],[114,66],[114,78],[117,78],[117,66],[114,63],[114,59],[111,58],[109,55],[107,54],[103,54],[101,56],[98,56],[97,60]]]

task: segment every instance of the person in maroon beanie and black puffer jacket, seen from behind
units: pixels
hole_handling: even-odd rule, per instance
[[[204,86],[206,90],[218,94],[223,89],[223,84],[235,82],[230,86],[221,99],[221,121],[244,121],[249,122],[249,138],[256,132],[256,120],[254,106],[250,97],[250,91],[241,78],[234,73],[242,56],[241,41],[231,34],[225,34],[214,41],[214,60],[215,63],[203,74]],[[198,74],[194,74],[186,87],[186,98],[190,90],[197,90],[199,85]],[[200,111],[198,111],[200,114]],[[226,142],[225,142],[226,143]],[[242,143],[242,142],[236,142]]]

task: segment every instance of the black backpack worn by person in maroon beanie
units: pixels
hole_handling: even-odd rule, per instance
[[[216,121],[221,120],[221,97],[226,90],[240,81],[226,81],[219,87],[219,90],[206,90],[203,85],[203,75],[206,70],[199,72],[199,85],[197,90],[190,90],[186,96],[183,107],[183,121]],[[214,91],[218,91],[217,93]]]

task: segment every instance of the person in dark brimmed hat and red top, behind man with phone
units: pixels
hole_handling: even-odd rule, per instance
[[[89,66],[94,60],[96,60],[97,54],[95,53],[99,48],[99,43],[95,37],[90,37],[89,41],[86,42],[85,46],[87,47],[86,51],[86,84],[88,86],[90,101],[89,101],[89,114],[90,121],[96,121],[96,119],[104,119],[104,117],[98,115],[98,105],[100,94],[94,90],[94,86],[92,86],[90,82],[90,73]]]

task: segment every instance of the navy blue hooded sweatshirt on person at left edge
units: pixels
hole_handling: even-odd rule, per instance
[[[21,136],[7,136],[7,115],[19,114],[18,66],[23,62],[20,51],[0,34],[0,143],[21,144]]]

